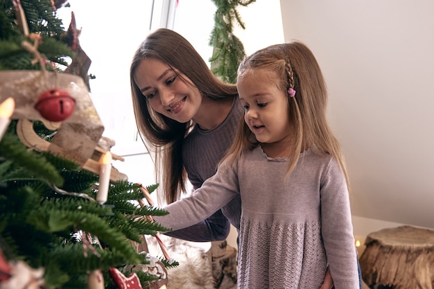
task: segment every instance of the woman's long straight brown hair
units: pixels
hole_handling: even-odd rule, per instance
[[[166,203],[174,202],[186,191],[186,172],[182,163],[182,145],[192,121],[178,123],[155,112],[148,105],[134,81],[134,73],[141,60],[153,58],[179,71],[189,78],[189,85],[197,87],[202,96],[213,100],[234,97],[236,85],[220,81],[209,70],[207,63],[193,46],[180,34],[166,28],[159,28],[146,37],[132,58],[130,85],[132,107],[141,139],[155,162],[159,191],[164,192]],[[160,199],[161,200],[161,199]]]

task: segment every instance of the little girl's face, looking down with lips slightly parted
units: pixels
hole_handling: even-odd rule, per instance
[[[288,94],[277,87],[278,80],[275,71],[249,69],[236,84],[244,121],[264,150],[267,144],[286,148],[290,137]]]

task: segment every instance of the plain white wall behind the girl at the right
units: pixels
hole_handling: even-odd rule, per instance
[[[358,218],[434,227],[433,11],[433,1],[281,0],[285,40],[307,44],[327,80]]]

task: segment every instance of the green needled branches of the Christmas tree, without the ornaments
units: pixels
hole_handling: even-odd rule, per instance
[[[55,62],[61,72],[59,67],[66,67],[67,59],[75,54],[51,1],[21,0],[21,5],[30,33],[42,37],[38,50],[49,60],[46,68],[53,69]],[[21,35],[12,0],[0,0],[0,8],[0,70],[41,69],[32,62],[34,55],[21,46],[31,39]],[[99,175],[51,152],[26,148],[16,128],[17,121],[12,121],[0,141],[1,252],[8,260],[44,268],[46,289],[87,288],[87,274],[96,269],[103,272],[105,288],[115,288],[108,268],[147,263],[132,242],[166,231],[144,216],[164,216],[167,211],[140,207],[141,185],[130,182],[111,182],[107,202],[98,204]],[[55,133],[39,121],[33,122],[33,129],[46,141]],[[147,189],[152,193],[157,186]],[[78,238],[81,232],[92,236],[91,243]],[[166,267],[178,265],[163,262]],[[144,288],[155,279],[144,272],[137,274]]]

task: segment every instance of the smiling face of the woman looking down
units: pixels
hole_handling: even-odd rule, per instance
[[[178,76],[178,74],[182,76]],[[179,71],[153,58],[143,59],[134,71],[134,81],[153,110],[180,123],[193,119],[202,103],[199,89]]]

